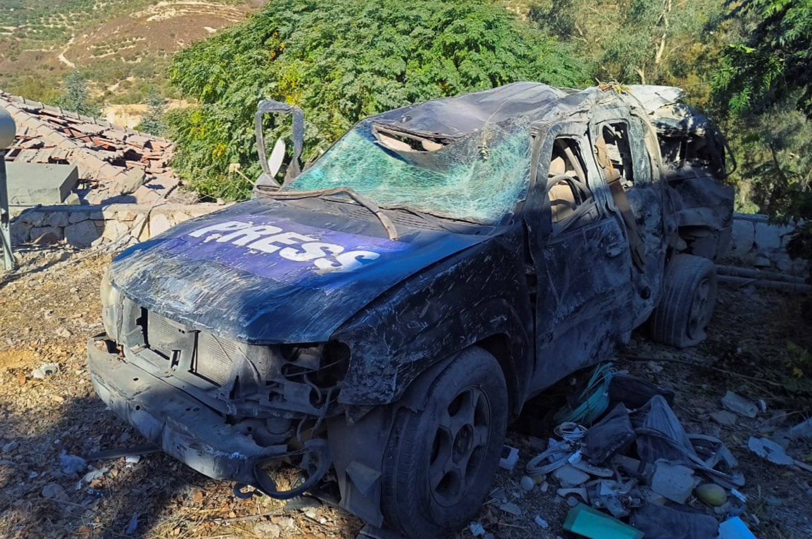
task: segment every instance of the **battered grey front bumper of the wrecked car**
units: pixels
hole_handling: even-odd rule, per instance
[[[97,346],[100,341],[111,344],[106,335],[88,341],[93,388],[116,415],[127,420],[149,442],[214,479],[253,485],[274,498],[291,498],[298,494],[276,491],[273,481],[261,468],[274,459],[322,451],[320,444],[311,443],[308,451],[295,452],[288,451],[287,445],[259,446],[253,438],[238,432],[217,412],[183,390],[127,363],[116,353],[100,349]],[[319,468],[326,468],[327,455],[320,456],[322,466]],[[326,460],[329,463],[329,459]],[[323,475],[322,470],[319,472]],[[313,484],[313,479],[317,478],[311,474],[307,486]]]

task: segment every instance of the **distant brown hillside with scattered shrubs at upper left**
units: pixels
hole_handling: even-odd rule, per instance
[[[104,101],[140,102],[175,52],[266,1],[2,0],[0,88],[47,100],[76,68]]]

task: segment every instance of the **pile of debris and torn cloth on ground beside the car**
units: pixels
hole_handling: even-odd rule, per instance
[[[737,459],[719,438],[686,432],[672,410],[674,398],[671,387],[598,366],[572,406],[555,415],[555,436],[536,440],[543,451],[526,464],[520,488],[544,493],[558,485],[557,497],[568,506],[564,530],[579,537],[754,539],[746,522],[758,524],[758,516],[740,491],[745,476]],[[717,414],[729,414],[725,420],[732,423],[766,411],[765,403],[732,391],[719,404]],[[754,436],[749,450],[773,464],[812,471],[784,452],[793,439],[812,435],[810,425]],[[522,514],[515,502],[524,494],[510,501],[497,489],[491,496],[504,513]],[[546,528],[542,515],[535,521]],[[474,535],[478,525],[472,524]]]

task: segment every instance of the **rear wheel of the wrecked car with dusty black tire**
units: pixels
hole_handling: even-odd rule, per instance
[[[706,258],[679,254],[668,262],[663,294],[650,318],[651,337],[672,347],[701,343],[716,303],[716,270]]]

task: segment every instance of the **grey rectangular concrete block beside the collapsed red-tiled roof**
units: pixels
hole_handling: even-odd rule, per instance
[[[79,181],[73,165],[7,162],[11,205],[61,204]]]

